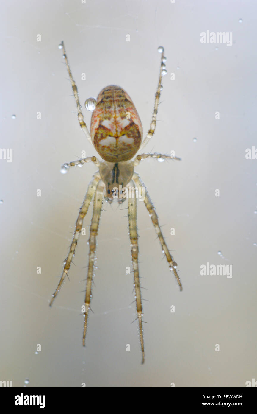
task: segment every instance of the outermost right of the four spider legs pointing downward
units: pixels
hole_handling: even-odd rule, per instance
[[[148,209],[149,215],[150,215],[151,220],[152,220],[152,224],[154,225],[157,236],[159,237],[159,241],[162,245],[162,250],[165,253],[167,262],[169,263],[169,269],[174,272],[175,277],[176,277],[177,282],[178,282],[178,285],[180,287],[180,290],[182,290],[182,284],[181,284],[181,281],[178,277],[178,273],[176,271],[177,264],[174,261],[174,258],[170,255],[167,244],[164,241],[162,231],[161,231],[160,226],[159,226],[158,216],[156,214],[155,207],[152,204],[152,201],[149,197],[148,191],[145,188],[145,185],[144,185],[143,181],[141,180],[141,178],[139,177],[139,175],[137,173],[134,173],[133,181],[135,181],[135,183],[136,183],[136,185],[138,185],[138,187],[142,187],[145,190],[145,197],[144,197],[145,207]]]

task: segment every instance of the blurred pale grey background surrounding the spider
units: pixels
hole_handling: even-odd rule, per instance
[[[247,148],[257,147],[257,5],[26,0],[2,3],[1,9],[0,147],[12,148],[13,159],[0,160],[0,380],[12,380],[14,387],[25,380],[27,387],[245,387],[257,378],[257,160],[245,158]],[[200,43],[208,30],[232,32],[232,46]],[[136,170],[155,202],[183,292],[140,202],[144,365],[137,323],[131,324],[136,309],[133,274],[126,274],[126,205],[103,206],[85,349],[80,292],[88,234],[80,237],[70,282],[48,306],[96,169],[87,164],[59,172],[83,150],[96,155],[79,127],[58,49],[62,40],[81,104],[117,84],[133,99],[144,133],[157,87],[157,48],[165,48],[168,73],[156,133],[144,151],[174,150],[182,161],[149,160]],[[90,113],[83,112],[89,125]],[[91,213],[92,206],[87,231]],[[200,275],[207,262],[232,265],[233,277]],[[35,354],[37,344],[41,351]]]

